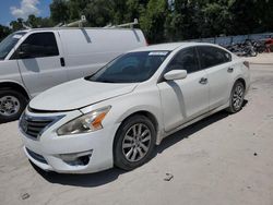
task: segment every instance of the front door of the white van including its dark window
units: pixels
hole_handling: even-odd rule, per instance
[[[68,81],[58,45],[54,32],[33,33],[14,53],[23,82],[32,96]],[[23,58],[19,55],[22,48],[27,51]]]

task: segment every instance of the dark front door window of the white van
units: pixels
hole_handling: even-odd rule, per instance
[[[37,33],[29,35],[20,46],[27,51],[26,58],[41,58],[59,56],[54,33]]]

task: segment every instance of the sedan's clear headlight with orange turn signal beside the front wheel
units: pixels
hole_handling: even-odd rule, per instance
[[[110,106],[104,107],[102,109],[94,110],[84,116],[81,116],[70,122],[63,124],[57,130],[58,135],[69,135],[69,134],[81,134],[87,132],[94,132],[96,130],[103,129],[102,122],[108,111]]]

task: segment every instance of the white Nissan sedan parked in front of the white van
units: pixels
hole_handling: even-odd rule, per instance
[[[140,48],[35,97],[20,120],[24,152],[44,170],[131,170],[167,135],[239,111],[249,79],[248,62],[215,45]]]

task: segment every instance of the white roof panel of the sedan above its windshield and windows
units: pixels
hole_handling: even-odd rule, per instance
[[[136,48],[134,50],[131,50],[130,52],[155,51],[155,50],[173,51],[177,48],[191,47],[191,46],[216,46],[216,45],[206,44],[206,43],[168,43],[168,44],[158,44],[158,45]]]

